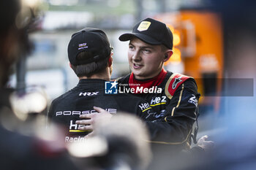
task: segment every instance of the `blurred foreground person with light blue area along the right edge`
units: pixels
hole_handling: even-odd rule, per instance
[[[211,3],[211,10],[219,13],[224,26],[225,79],[236,78],[241,84],[248,79],[252,81],[223,85],[223,91],[231,89],[232,96],[222,96],[222,117],[213,127],[222,131],[211,135],[214,150],[199,161],[177,162],[177,169],[253,170],[256,169],[256,1],[214,0]],[[243,92],[249,95],[239,96]]]

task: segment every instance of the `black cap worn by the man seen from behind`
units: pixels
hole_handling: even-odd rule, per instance
[[[78,60],[78,54],[83,51],[90,52],[92,54],[91,57],[82,61]],[[69,62],[73,66],[97,62],[108,58],[110,52],[111,47],[108,36],[104,31],[97,28],[83,28],[75,34],[72,34],[67,47]]]

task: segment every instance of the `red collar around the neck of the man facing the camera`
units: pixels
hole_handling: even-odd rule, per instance
[[[167,72],[165,71],[165,69],[162,69],[162,71],[156,77],[153,77],[148,80],[136,80],[134,77],[134,74],[132,73],[129,77],[129,87],[130,88],[137,88],[137,87],[151,88],[153,86],[158,86],[165,79],[166,74]]]

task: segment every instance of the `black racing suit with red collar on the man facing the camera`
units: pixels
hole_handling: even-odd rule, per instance
[[[178,76],[174,79],[172,77],[174,74],[166,72],[164,69],[160,74],[162,77],[154,77],[154,79],[146,81],[135,80],[133,74],[129,74],[119,79],[118,83],[129,86],[131,83],[140,85],[151,83],[151,85],[162,88],[162,93],[135,94],[145,99],[154,110],[154,112],[144,112],[142,115],[150,131],[151,142],[187,147],[187,144],[190,143],[192,125],[197,118],[197,101],[200,97],[200,94],[197,93],[196,82],[192,77],[187,77],[184,81],[179,81],[180,77]],[[181,74],[178,75],[181,76]],[[173,96],[168,92],[168,88],[171,88],[172,85],[174,88],[177,86],[173,91]]]

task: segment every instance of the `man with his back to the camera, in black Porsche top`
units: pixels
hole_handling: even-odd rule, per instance
[[[50,120],[64,124],[67,128],[65,142],[83,141],[83,136],[93,130],[93,124],[87,123],[89,120],[83,120],[83,123],[89,124],[86,130],[76,121],[80,120],[80,115],[97,117],[99,114],[94,113],[98,109],[94,106],[102,107],[111,114],[124,111],[138,115],[151,108],[135,96],[105,94],[105,82],[110,81],[112,72],[112,55],[108,37],[102,30],[84,28],[72,35],[68,45],[69,66],[78,76],[79,82],[75,88],[54,99],[48,112]],[[114,88],[118,83],[110,84],[110,88]],[[141,104],[145,107],[140,107]],[[111,116],[105,114],[103,118]]]

